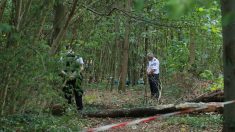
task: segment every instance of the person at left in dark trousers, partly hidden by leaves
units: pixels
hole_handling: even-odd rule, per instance
[[[68,53],[65,57],[65,68],[62,70],[62,75],[64,78],[63,92],[64,97],[67,99],[68,104],[72,103],[72,95],[75,95],[75,101],[78,110],[83,109],[82,95],[83,90],[82,84],[82,74],[83,70],[83,60],[81,57],[77,57],[74,53]]]

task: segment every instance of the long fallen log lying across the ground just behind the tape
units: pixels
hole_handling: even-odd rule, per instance
[[[222,112],[223,106],[219,103],[183,103],[183,104],[169,104],[159,105],[157,107],[148,108],[130,108],[130,109],[117,109],[117,110],[104,110],[96,112],[83,113],[84,116],[97,117],[97,118],[116,118],[116,117],[145,117],[157,114],[166,114],[176,111],[183,111],[187,109],[207,107],[206,109],[197,112]]]

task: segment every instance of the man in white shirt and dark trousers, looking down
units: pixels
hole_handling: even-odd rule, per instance
[[[148,53],[147,75],[150,85],[151,96],[159,100],[160,82],[159,82],[159,66],[160,62],[154,57],[153,53]]]

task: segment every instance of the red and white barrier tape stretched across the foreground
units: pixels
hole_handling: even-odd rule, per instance
[[[190,113],[190,112],[194,112],[194,111],[199,111],[199,110],[207,109],[211,106],[221,107],[221,106],[232,104],[232,103],[235,103],[235,100],[227,101],[227,102],[223,102],[223,103],[209,103],[207,106],[204,106],[204,107],[198,107],[198,108],[186,109],[186,110],[176,111],[176,112],[162,114],[162,115],[156,115],[156,116],[152,116],[152,117],[133,120],[130,122],[122,122],[122,123],[117,123],[117,124],[101,126],[101,127],[97,127],[97,128],[90,128],[90,129],[84,130],[84,132],[99,132],[99,131],[105,131],[105,130],[109,130],[109,129],[121,128],[121,127],[125,127],[125,126],[139,124],[139,123],[150,122],[150,121],[153,121],[153,120],[156,120],[159,118],[166,118],[166,117],[173,116],[173,115],[180,115],[180,114],[186,114],[186,113]]]

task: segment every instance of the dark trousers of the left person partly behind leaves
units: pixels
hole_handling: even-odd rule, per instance
[[[65,87],[63,88],[64,96],[68,100],[68,104],[72,104],[72,95],[74,93],[75,101],[78,110],[83,109],[82,95],[83,91],[80,86],[76,86],[76,79],[69,80],[66,82]]]

